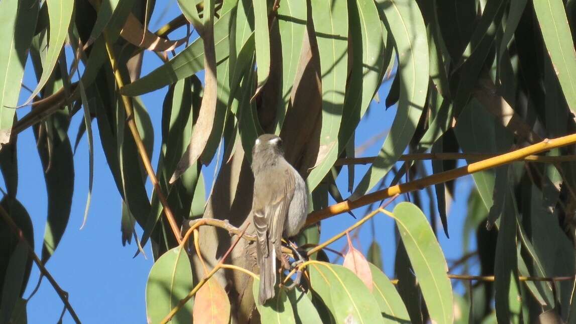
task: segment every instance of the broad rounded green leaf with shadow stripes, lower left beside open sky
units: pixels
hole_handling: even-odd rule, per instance
[[[146,315],[149,323],[160,322],[194,288],[188,254],[182,247],[166,251],[154,263],[146,283]],[[172,323],[190,323],[194,301],[188,300]]]

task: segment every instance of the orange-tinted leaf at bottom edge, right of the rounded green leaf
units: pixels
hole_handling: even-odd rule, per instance
[[[214,277],[196,292],[193,315],[196,323],[227,324],[230,320],[228,295]]]

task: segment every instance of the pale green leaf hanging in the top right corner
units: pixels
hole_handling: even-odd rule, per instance
[[[576,112],[576,52],[562,0],[534,1],[544,44],[568,107]]]

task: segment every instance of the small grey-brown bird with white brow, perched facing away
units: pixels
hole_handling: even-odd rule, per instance
[[[300,232],[308,214],[308,189],[298,171],[284,159],[282,140],[274,134],[257,138],[252,149],[256,258],[260,267],[259,302],[274,297],[276,259],[282,258],[282,237]]]

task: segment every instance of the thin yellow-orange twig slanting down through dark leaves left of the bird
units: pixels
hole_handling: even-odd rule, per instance
[[[108,58],[110,60],[110,64],[112,65],[114,76],[116,78],[116,85],[118,86],[118,89],[121,89],[124,86],[124,81],[122,80],[120,70],[118,70],[118,62],[116,61],[114,51],[112,50],[112,45],[110,44],[108,37],[105,34],[104,39],[106,40],[106,50],[108,52]],[[144,168],[146,169],[146,172],[150,177],[150,182],[154,187],[154,191],[156,191],[158,199],[160,199],[162,207],[164,208],[164,214],[166,215],[166,219],[168,219],[170,228],[172,228],[172,232],[174,233],[177,242],[180,244],[182,242],[180,236],[180,228],[178,227],[178,225],[176,225],[174,214],[172,213],[172,210],[168,205],[168,201],[166,200],[165,195],[162,193],[162,190],[160,189],[158,178],[156,178],[156,174],[154,173],[154,169],[152,168],[152,164],[150,163],[150,157],[146,152],[146,148],[144,146],[144,143],[142,142],[142,137],[138,132],[138,127],[136,126],[136,122],[134,120],[134,108],[132,107],[132,101],[127,96],[121,96],[121,97],[124,103],[124,109],[126,110],[128,127],[130,128],[132,137],[134,137],[134,142],[136,143],[136,146],[138,148],[138,153],[140,154],[140,158],[142,160],[142,163],[144,164]]]

